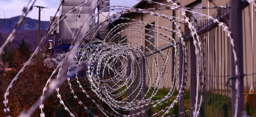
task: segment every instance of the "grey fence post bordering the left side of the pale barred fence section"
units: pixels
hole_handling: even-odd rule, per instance
[[[195,45],[193,40],[189,42],[190,47],[190,115],[194,115],[195,103],[196,103],[196,53],[195,53]]]

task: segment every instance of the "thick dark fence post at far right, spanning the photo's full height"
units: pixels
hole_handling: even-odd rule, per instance
[[[231,76],[232,79],[231,90],[232,95],[232,116],[242,116],[244,111],[244,79],[243,75],[243,20],[242,20],[242,0],[230,0],[230,30],[232,38],[234,39],[238,76],[235,76],[235,58],[231,49]],[[238,81],[238,87],[236,86]],[[237,109],[236,109],[237,108]]]

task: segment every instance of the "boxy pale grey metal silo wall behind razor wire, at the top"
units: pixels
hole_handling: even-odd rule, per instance
[[[93,21],[92,19],[89,19],[89,18],[91,14],[94,14],[95,12],[94,8],[95,8],[96,2],[90,1],[82,6],[79,6],[84,2],[85,0],[82,0],[82,1],[66,0],[62,3],[61,17],[63,17],[64,15],[66,15],[66,17],[65,19],[60,21],[60,43],[61,44],[71,43],[71,41],[76,37],[76,35],[77,35],[77,39],[83,39],[85,32],[89,27],[89,24]],[[76,7],[75,10],[71,11],[74,7]],[[91,27],[94,27],[94,24],[95,23],[92,23]],[[81,31],[78,33],[80,29]]]

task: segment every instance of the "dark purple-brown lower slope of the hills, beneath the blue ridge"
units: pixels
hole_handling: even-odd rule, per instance
[[[43,35],[45,34],[46,30],[41,30],[41,39],[43,37]],[[6,38],[8,37],[9,33],[1,33],[2,37],[4,40],[6,40]],[[17,48],[19,47],[19,43],[21,43],[21,40],[24,39],[25,43],[28,44],[29,48],[31,51],[35,51],[36,47],[37,47],[37,30],[34,31],[23,31],[23,32],[18,32],[14,41],[12,42],[11,46],[8,47],[9,50],[11,50],[13,47]],[[47,43],[49,43],[48,40],[53,40],[53,36],[51,37],[47,37],[47,39],[45,40],[42,49],[45,49],[45,46],[47,45]],[[56,38],[55,38],[56,39]],[[0,40],[2,41],[2,40]]]

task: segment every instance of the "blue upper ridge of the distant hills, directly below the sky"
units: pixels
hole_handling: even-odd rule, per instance
[[[19,21],[20,16],[11,17],[10,19],[0,19],[0,32],[9,33],[15,27],[15,24]],[[50,17],[49,17],[50,18]],[[46,30],[50,25],[50,21],[41,21],[41,30]],[[21,31],[33,31],[38,29],[38,20],[25,18],[25,22],[20,26]]]

